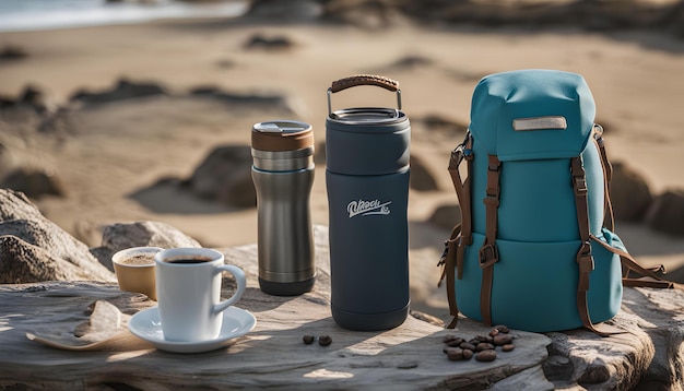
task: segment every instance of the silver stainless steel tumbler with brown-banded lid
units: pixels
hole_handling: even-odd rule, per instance
[[[259,286],[271,295],[311,291],[316,281],[309,198],[314,132],[305,122],[259,122],[251,130],[257,190]]]

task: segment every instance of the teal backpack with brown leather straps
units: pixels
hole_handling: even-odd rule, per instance
[[[601,334],[594,323],[617,313],[623,284],[672,286],[612,232],[611,166],[594,115],[579,74],[521,70],[480,81],[449,163],[461,208],[440,260],[449,328],[460,311],[518,330]]]

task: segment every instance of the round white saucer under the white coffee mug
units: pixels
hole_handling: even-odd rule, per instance
[[[247,334],[257,324],[255,316],[237,307],[223,311],[221,334],[214,340],[202,342],[175,342],[164,339],[158,307],[148,308],[131,317],[128,329],[156,348],[174,353],[201,353],[231,345],[238,336]]]

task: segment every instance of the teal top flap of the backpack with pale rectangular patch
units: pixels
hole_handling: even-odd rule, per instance
[[[480,81],[470,130],[499,161],[578,156],[595,106],[585,79],[553,70],[496,73]]]

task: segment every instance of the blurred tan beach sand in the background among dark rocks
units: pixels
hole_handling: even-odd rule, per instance
[[[286,37],[294,46],[248,50],[245,44],[255,34]],[[99,245],[98,226],[143,220],[168,223],[209,247],[256,242],[256,209],[235,210],[154,185],[161,178],[188,178],[219,145],[249,145],[255,122],[303,120],[323,141],[326,91],[332,81],[356,73],[399,81],[403,110],[412,120],[412,155],[438,182],[436,191],[411,190],[409,206],[413,301],[433,313],[446,308],[446,294],[436,288],[436,263],[448,232],[426,220],[437,206],[457,203],[446,167],[462,134],[431,129],[423,119],[439,116],[467,125],[482,76],[523,68],[582,74],[611,159],[646,176],[654,193],[684,188],[684,42],[654,33],[421,28],[408,23],[368,31],[190,20],[0,34],[0,45],[9,44],[28,56],[0,63],[0,95],[17,96],[33,84],[66,104],[76,91],[111,88],[121,78],[169,92],[83,109],[78,134],[60,141],[3,134],[12,162],[40,161],[61,177],[67,197],[36,203],[91,247]],[[188,95],[200,86],[283,95],[294,111],[236,109]],[[332,103],[333,108],[392,106],[396,97],[381,88],[357,87],[334,94]],[[325,164],[319,163],[314,224],[328,223],[327,208]],[[681,238],[624,223],[617,233],[645,264],[684,264]]]

